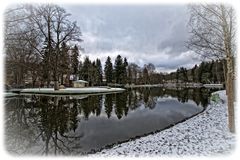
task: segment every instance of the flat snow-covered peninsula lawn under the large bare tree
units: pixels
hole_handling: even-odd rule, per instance
[[[53,88],[28,88],[22,89],[20,93],[34,94],[92,94],[92,93],[108,93],[124,91],[122,88],[107,88],[107,87],[85,87],[85,88],[65,88],[54,91]]]

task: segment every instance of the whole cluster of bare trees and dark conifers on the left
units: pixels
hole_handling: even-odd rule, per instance
[[[81,31],[57,5],[19,5],[5,12],[6,73],[9,83],[63,81],[78,68]]]

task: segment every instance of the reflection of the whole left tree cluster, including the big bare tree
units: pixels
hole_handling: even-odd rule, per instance
[[[8,105],[11,110],[6,112],[7,117],[11,115],[11,118],[6,119],[6,134],[9,138],[6,143],[10,152],[70,154],[80,145],[78,140],[83,135],[71,135],[78,123],[76,102],[67,98],[35,96],[12,100],[13,103],[19,101],[22,103],[15,108]],[[26,120],[18,121],[21,117]],[[15,147],[11,146],[13,143]]]

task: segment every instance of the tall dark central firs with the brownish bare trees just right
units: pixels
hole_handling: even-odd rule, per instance
[[[107,83],[117,84],[156,84],[161,81],[161,74],[155,72],[155,66],[152,63],[145,64],[142,68],[135,63],[128,63],[118,55],[114,65],[111,58],[107,57],[104,67],[104,73]]]

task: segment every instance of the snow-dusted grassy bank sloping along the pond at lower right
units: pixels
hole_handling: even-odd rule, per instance
[[[228,131],[225,91],[197,116],[162,132],[104,149],[95,156],[218,155],[234,150],[235,136]]]

